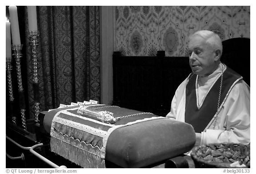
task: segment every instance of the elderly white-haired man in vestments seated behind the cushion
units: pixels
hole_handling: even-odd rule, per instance
[[[220,62],[222,42],[212,31],[189,37],[192,73],[172,99],[166,117],[191,124],[196,144],[250,142],[250,87]]]

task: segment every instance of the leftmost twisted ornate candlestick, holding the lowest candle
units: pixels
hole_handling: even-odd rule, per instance
[[[11,58],[6,58],[6,71],[7,71],[7,78],[8,78],[8,90],[9,90],[9,100],[11,102],[11,107],[13,106],[13,93],[12,93],[12,57]],[[11,108],[12,112],[13,107]],[[12,116],[12,123],[16,124],[16,116],[11,113]]]

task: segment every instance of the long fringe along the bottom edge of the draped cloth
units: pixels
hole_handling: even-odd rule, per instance
[[[83,168],[105,168],[105,160],[100,156],[91,154],[55,137],[51,137],[50,144],[52,152]]]

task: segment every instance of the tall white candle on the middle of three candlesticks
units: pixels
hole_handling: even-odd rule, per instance
[[[19,28],[17,7],[9,6],[9,14],[10,14],[10,22],[11,22],[12,44],[20,45],[20,28]]]

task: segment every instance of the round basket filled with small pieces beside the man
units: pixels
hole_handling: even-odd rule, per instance
[[[198,168],[250,168],[250,144],[211,143],[191,152]]]

